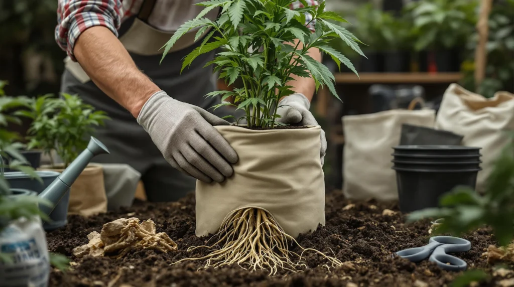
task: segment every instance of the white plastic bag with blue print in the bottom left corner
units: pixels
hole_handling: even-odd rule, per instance
[[[39,217],[13,221],[0,233],[0,286],[46,287],[50,274],[48,246]]]

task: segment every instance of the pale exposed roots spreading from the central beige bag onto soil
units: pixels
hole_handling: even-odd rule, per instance
[[[196,248],[214,248],[208,255],[200,258],[185,258],[180,261],[206,259],[204,266],[206,268],[237,264],[246,270],[269,270],[270,275],[275,275],[281,269],[297,272],[306,267],[302,260],[303,253],[312,251],[328,260],[326,267],[342,265],[342,262],[335,257],[312,248],[301,247],[295,238],[284,233],[268,212],[260,208],[238,209],[224,221],[222,226],[215,235],[219,240],[213,245],[188,248],[188,251]],[[301,254],[289,251],[289,247],[293,244],[300,247]],[[293,261],[293,259],[297,260]]]

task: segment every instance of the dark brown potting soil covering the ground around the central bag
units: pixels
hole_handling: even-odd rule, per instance
[[[355,205],[344,208],[351,203]],[[382,215],[386,208],[396,213]],[[154,220],[157,232],[166,232],[178,244],[179,251],[162,254],[140,250],[123,259],[74,259],[67,272],[52,270],[50,286],[444,286],[460,274],[443,271],[428,260],[415,264],[392,256],[404,248],[425,245],[431,225],[428,220],[405,224],[405,216],[398,212],[396,203],[350,202],[336,191],[327,195],[325,212],[326,226],[301,235],[298,242],[305,248],[329,252],[347,263],[328,271],[323,266],[326,260],[308,254],[306,270],[282,272],[274,277],[266,271],[250,272],[237,265],[202,269],[201,260],[169,265],[182,258],[207,254],[205,249],[186,251],[209,239],[195,236],[194,195],[175,203],[138,201],[131,208],[95,217],[69,216],[65,227],[47,234],[50,252],[73,259],[71,250],[87,243],[90,232],[100,232],[104,223],[121,217]],[[478,267],[492,273],[492,267],[481,256],[489,244],[494,244],[490,230],[479,229],[463,237],[471,241],[471,250],[455,255],[464,259],[469,269]],[[293,250],[298,252],[299,248]],[[505,278],[492,277],[481,286],[494,285]]]

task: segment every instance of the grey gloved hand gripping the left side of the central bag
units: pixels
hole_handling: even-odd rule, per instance
[[[156,92],[143,105],[137,122],[174,168],[198,180],[222,182],[234,170],[237,154],[213,127],[229,125],[214,114]]]

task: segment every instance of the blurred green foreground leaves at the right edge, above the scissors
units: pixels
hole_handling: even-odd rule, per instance
[[[414,212],[409,220],[443,218],[435,231],[455,235],[489,225],[501,245],[510,243],[514,239],[514,135],[495,162],[483,196],[469,187],[455,187],[439,205]]]

